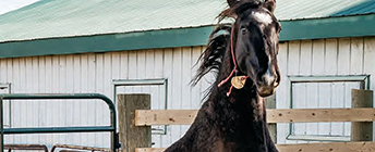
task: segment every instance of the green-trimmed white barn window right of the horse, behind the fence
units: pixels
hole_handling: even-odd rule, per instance
[[[370,89],[368,76],[290,76],[291,109],[351,107],[351,89]],[[351,123],[291,123],[288,140],[350,141]]]

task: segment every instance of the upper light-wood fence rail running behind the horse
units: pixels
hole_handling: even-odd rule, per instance
[[[136,110],[135,126],[190,125],[197,110]],[[267,110],[268,123],[374,122],[375,109]]]

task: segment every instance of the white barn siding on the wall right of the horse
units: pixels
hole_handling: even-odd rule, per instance
[[[277,89],[277,107],[291,107],[290,80],[287,76],[371,75],[371,89],[374,89],[374,37],[301,40],[281,43],[278,60],[282,81]],[[299,101],[293,107],[350,107],[351,88],[359,88],[359,84],[322,83],[293,85],[292,98],[294,103]],[[302,135],[339,134],[349,136],[350,123],[301,123],[297,124],[294,129],[294,132]],[[277,142],[304,142],[287,140],[289,132],[289,124],[278,124]]]

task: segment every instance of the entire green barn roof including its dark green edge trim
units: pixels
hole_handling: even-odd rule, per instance
[[[281,40],[375,35],[374,0],[277,4]],[[205,45],[225,8],[225,0],[41,0],[0,15],[0,58]]]

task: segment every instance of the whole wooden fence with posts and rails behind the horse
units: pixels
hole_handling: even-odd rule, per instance
[[[164,148],[150,148],[150,126],[190,125],[196,116],[197,110],[149,110],[149,94],[119,96],[120,142],[123,152],[161,152]],[[375,142],[372,141],[375,109],[372,103],[372,91],[352,90],[352,109],[267,110],[267,119],[268,123],[353,123],[351,142],[277,144],[280,152],[375,152]]]

